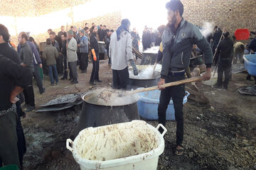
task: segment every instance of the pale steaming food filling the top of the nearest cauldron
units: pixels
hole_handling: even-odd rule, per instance
[[[132,96],[122,95],[124,93],[125,91],[100,88],[82,94],[82,100],[98,106],[127,106],[139,100],[137,94]]]

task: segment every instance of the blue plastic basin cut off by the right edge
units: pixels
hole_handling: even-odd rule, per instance
[[[247,72],[252,76],[256,76],[256,55],[244,55],[243,58]]]

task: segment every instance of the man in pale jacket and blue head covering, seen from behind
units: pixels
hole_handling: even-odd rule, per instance
[[[138,75],[138,69],[132,55],[132,35],[129,33],[130,25],[128,19],[123,19],[121,26],[111,35],[110,59],[114,89],[127,89],[129,84],[128,62],[131,63],[134,69],[134,75]]]

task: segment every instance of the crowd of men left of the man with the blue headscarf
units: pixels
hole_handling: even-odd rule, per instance
[[[48,74],[52,86],[58,85],[60,74],[63,74],[62,80],[68,79],[68,70],[71,84],[78,84],[77,67],[79,65],[82,73],[87,72],[88,54],[91,51],[93,67],[90,84],[101,82],[98,38],[105,41],[108,53],[113,32],[106,26],[97,27],[94,23],[91,28],[86,23],[85,28],[79,30],[71,26],[67,32],[61,26],[57,35],[49,29],[49,38],[41,54],[35,40],[25,32],[18,34],[18,46],[15,47],[10,41],[9,30],[0,24],[0,167],[3,163],[16,164],[23,169],[26,140],[21,116],[36,108],[33,77],[40,94],[46,91],[39,71],[41,68]],[[22,103],[24,105],[21,107]]]

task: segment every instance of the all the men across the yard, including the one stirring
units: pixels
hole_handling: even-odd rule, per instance
[[[199,28],[186,21],[183,16],[183,4],[180,0],[171,0],[166,4],[168,12],[168,24],[160,26],[158,33],[145,27],[142,35],[144,50],[151,45],[160,45],[162,69],[159,80],[159,123],[166,124],[166,109],[172,98],[176,118],[176,147],[175,154],[181,156],[183,148],[183,96],[185,85],[163,88],[163,84],[172,81],[186,79],[185,73],[189,66],[193,46],[197,46],[204,55],[206,73],[203,80],[211,77],[212,64],[218,65],[218,84],[220,89],[228,89],[230,79],[230,67],[232,62],[239,59],[245,50],[256,52],[256,37],[250,42],[247,48],[242,42],[230,39],[230,33],[215,27],[210,38],[203,37]],[[91,52],[92,72],[90,84],[95,81],[101,82],[99,76],[99,45],[98,40],[105,41],[109,64],[112,68],[112,79],[114,89],[127,89],[129,84],[128,62],[132,65],[133,74],[138,74],[138,69],[132,55],[132,46],[139,48],[139,34],[134,28],[129,32],[131,23],[123,19],[117,30],[108,30],[106,26],[95,26],[91,28],[85,23],[85,28],[77,29],[71,26],[65,32],[61,26],[60,32],[56,35],[49,29],[49,38],[46,40],[46,47],[40,57],[38,45],[35,40],[25,32],[18,34],[17,51],[9,41],[8,29],[0,24],[0,166],[16,164],[23,169],[23,154],[26,152],[26,141],[21,126],[20,117],[25,115],[21,103],[25,102],[26,112],[35,109],[35,96],[33,92],[33,77],[36,79],[38,89],[43,94],[46,89],[43,87],[39,68],[44,68],[50,77],[50,84],[55,86],[59,83],[58,75],[63,74],[62,80],[70,80],[71,84],[78,84],[78,65],[82,73],[87,72],[88,55]],[[182,32],[182,34],[179,34]],[[220,41],[221,37],[224,37]],[[220,43],[219,43],[220,41]],[[218,45],[219,44],[219,45]],[[235,49],[234,49],[235,48]],[[233,52],[235,59],[233,60]],[[213,53],[218,57],[214,59]],[[43,61],[42,61],[43,60]],[[45,64],[44,64],[45,63]],[[69,72],[68,72],[69,70]],[[223,72],[225,81],[222,80]],[[23,93],[22,93],[23,92]],[[163,129],[159,129],[163,132]]]

